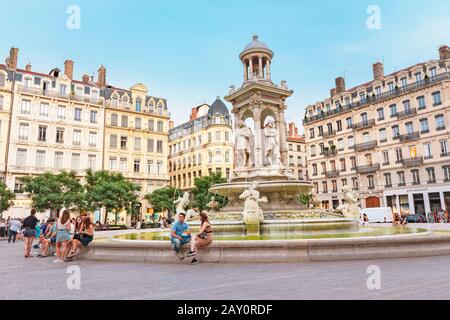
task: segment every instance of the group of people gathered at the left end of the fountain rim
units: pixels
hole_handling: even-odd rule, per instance
[[[16,231],[17,233],[17,231]],[[39,258],[51,256],[50,249],[56,251],[56,263],[71,261],[79,252],[81,246],[88,246],[94,238],[94,225],[87,215],[70,217],[70,212],[64,210],[56,217],[50,217],[44,223],[39,223],[36,210],[23,220],[20,233],[25,241],[24,257],[31,257],[34,248],[40,248]]]

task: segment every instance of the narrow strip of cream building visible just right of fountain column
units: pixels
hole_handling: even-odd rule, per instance
[[[286,141],[289,169],[292,170],[298,180],[308,180],[305,137],[299,135],[298,128],[293,122],[288,124]]]

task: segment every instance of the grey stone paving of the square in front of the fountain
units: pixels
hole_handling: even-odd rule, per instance
[[[98,234],[100,237],[100,233]],[[450,299],[450,256],[303,264],[163,265],[22,256],[0,241],[0,299]],[[201,257],[201,256],[200,256]],[[69,266],[81,290],[69,290]],[[367,268],[381,289],[367,288]]]

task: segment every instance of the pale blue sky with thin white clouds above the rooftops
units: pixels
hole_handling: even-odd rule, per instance
[[[286,120],[298,126],[305,106],[327,98],[338,76],[350,88],[371,80],[377,61],[387,74],[436,59],[439,46],[450,45],[448,0],[0,0],[0,5],[1,62],[16,46],[19,67],[31,63],[37,72],[62,70],[71,59],[74,77],[81,79],[97,76],[103,64],[108,84],[143,83],[149,95],[166,98],[176,125],[189,119],[193,106],[223,99],[230,85],[242,84],[239,53],[253,34],[275,52],[273,81],[286,80],[294,90]]]

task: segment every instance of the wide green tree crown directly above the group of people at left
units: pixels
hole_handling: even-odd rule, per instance
[[[50,172],[23,177],[24,191],[31,195],[32,206],[38,212],[58,212],[62,208],[78,210],[84,205],[84,189],[75,172]]]

